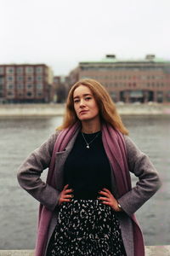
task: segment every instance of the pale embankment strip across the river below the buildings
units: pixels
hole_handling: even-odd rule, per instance
[[[117,103],[120,115],[170,115],[170,104]],[[1,104],[0,117],[50,117],[63,116],[65,104]]]

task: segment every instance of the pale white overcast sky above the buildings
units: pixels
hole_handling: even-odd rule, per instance
[[[67,75],[106,54],[170,60],[170,0],[0,0],[0,64]]]

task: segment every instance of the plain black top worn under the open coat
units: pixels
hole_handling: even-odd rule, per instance
[[[88,143],[95,139],[86,148],[82,132],[78,133],[65,161],[64,183],[74,189],[75,199],[96,199],[100,189],[111,190],[111,166],[105,154],[101,131],[83,135]]]

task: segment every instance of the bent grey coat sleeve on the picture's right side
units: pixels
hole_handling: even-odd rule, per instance
[[[161,187],[161,180],[149,157],[141,152],[133,141],[125,136],[127,163],[130,172],[139,178],[136,186],[122,195],[118,202],[122,209],[131,216],[145,201]]]

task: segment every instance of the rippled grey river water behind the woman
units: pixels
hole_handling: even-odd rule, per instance
[[[163,183],[156,195],[136,212],[145,244],[170,244],[170,118],[122,119],[133,141],[150,156]],[[0,119],[0,249],[35,246],[38,202],[20,188],[16,172],[26,156],[61,122],[62,117]],[[136,178],[132,179],[134,184]]]

